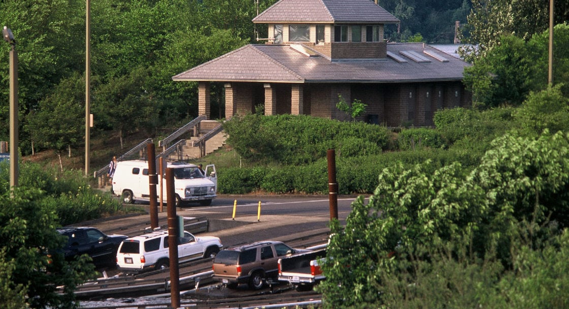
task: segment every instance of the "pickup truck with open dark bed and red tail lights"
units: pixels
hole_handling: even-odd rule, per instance
[[[325,279],[320,269],[320,262],[325,258],[325,249],[281,258],[278,261],[279,281],[290,283],[298,291],[311,290]]]

